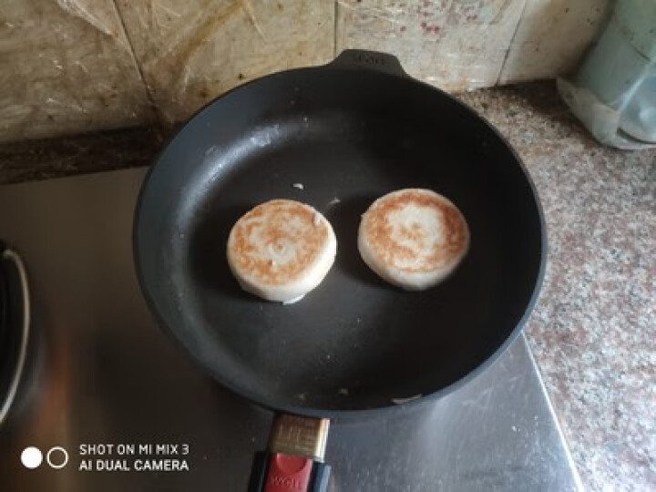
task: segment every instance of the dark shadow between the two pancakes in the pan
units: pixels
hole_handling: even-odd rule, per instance
[[[396,290],[395,287],[384,282],[363,261],[357,245],[362,214],[376,198],[378,197],[347,198],[335,203],[333,208],[326,212],[326,219],[333,225],[333,231],[337,237],[337,257],[333,268],[344,272],[356,282],[392,291]]]

